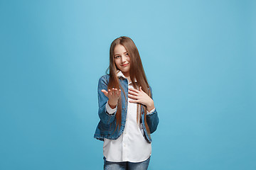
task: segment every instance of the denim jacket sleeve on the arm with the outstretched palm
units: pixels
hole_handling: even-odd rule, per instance
[[[115,115],[117,113],[117,109],[112,114],[107,113],[106,104],[107,104],[108,98],[102,92],[102,89],[105,89],[107,91],[107,79],[105,78],[105,76],[100,77],[99,84],[97,87],[98,103],[99,103],[98,114],[102,123],[108,125],[114,121]]]

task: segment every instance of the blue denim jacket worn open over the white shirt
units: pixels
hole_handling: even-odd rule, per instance
[[[120,84],[120,86],[122,86],[122,88],[124,89],[124,92],[125,92],[125,93],[123,93],[121,91],[122,121],[121,121],[120,129],[117,126],[117,130],[114,131],[114,129],[116,127],[116,123],[117,123],[117,120],[115,118],[115,114],[117,113],[117,111],[115,111],[113,114],[107,113],[106,103],[108,101],[108,98],[101,91],[102,89],[105,89],[107,91],[107,84],[109,82],[109,79],[110,79],[110,75],[108,75],[108,74],[100,77],[99,83],[98,83],[98,88],[97,88],[98,104],[99,104],[98,114],[100,117],[100,122],[97,125],[94,137],[97,140],[102,140],[102,141],[104,141],[104,138],[109,139],[109,140],[117,140],[117,138],[124,131],[124,125],[125,125],[126,118],[127,118],[127,104],[128,104],[127,102],[128,101],[125,101],[125,96],[128,98],[128,80],[124,79],[124,78],[120,78],[119,84]],[[149,89],[152,94],[151,86],[149,86]],[[153,96],[152,96],[152,99],[153,99]],[[144,130],[144,136],[145,136],[146,141],[150,143],[151,137],[149,137],[149,135],[146,133],[145,123],[144,123],[145,113],[144,113],[143,107],[141,107],[141,111],[142,111],[142,128]],[[157,113],[156,109],[154,112],[146,114],[146,123],[149,125],[150,133],[153,133],[156,130],[157,125],[159,124],[159,117],[158,117],[158,113]]]

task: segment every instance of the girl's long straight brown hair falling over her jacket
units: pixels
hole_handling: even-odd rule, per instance
[[[120,89],[121,87],[122,92],[124,93],[124,89],[119,84],[119,78],[117,77],[117,66],[114,62],[114,47],[116,45],[123,45],[125,49],[128,52],[129,55],[129,63],[130,63],[130,69],[129,69],[129,77],[132,81],[132,85],[135,89],[138,89],[139,86],[142,86],[142,91],[144,91],[147,95],[151,97],[151,91],[149,89],[148,81],[146,80],[146,74],[144,72],[144,68],[142,65],[142,60],[139,56],[139,51],[134,44],[133,40],[126,36],[121,36],[119,38],[116,38],[110,45],[110,67],[107,68],[110,69],[110,80],[107,86],[107,89],[112,89],[113,87],[116,89]],[[106,70],[106,73],[107,73]],[[120,70],[121,72],[121,70]],[[137,83],[135,82],[135,79],[137,80]],[[124,93],[125,96],[125,93]],[[125,100],[127,101],[127,97],[125,96]],[[127,103],[127,102],[125,102]],[[139,125],[139,122],[141,122],[142,113],[139,108],[144,108],[144,123],[146,126],[146,132],[150,136],[149,126],[146,123],[146,106],[142,105],[141,103],[137,103],[137,123]],[[117,119],[117,125],[119,125],[119,128],[121,127],[121,113],[122,113],[122,98],[119,98],[117,102],[117,113],[116,113],[116,119]],[[117,125],[115,130],[117,129]]]

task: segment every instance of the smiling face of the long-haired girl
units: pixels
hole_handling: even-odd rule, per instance
[[[125,77],[129,77],[129,54],[123,45],[116,45],[114,47],[114,63],[117,68],[122,71]]]

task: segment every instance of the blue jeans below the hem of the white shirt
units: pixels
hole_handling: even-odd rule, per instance
[[[104,159],[104,170],[146,170],[149,166],[149,160],[146,159],[144,162],[108,162]]]

